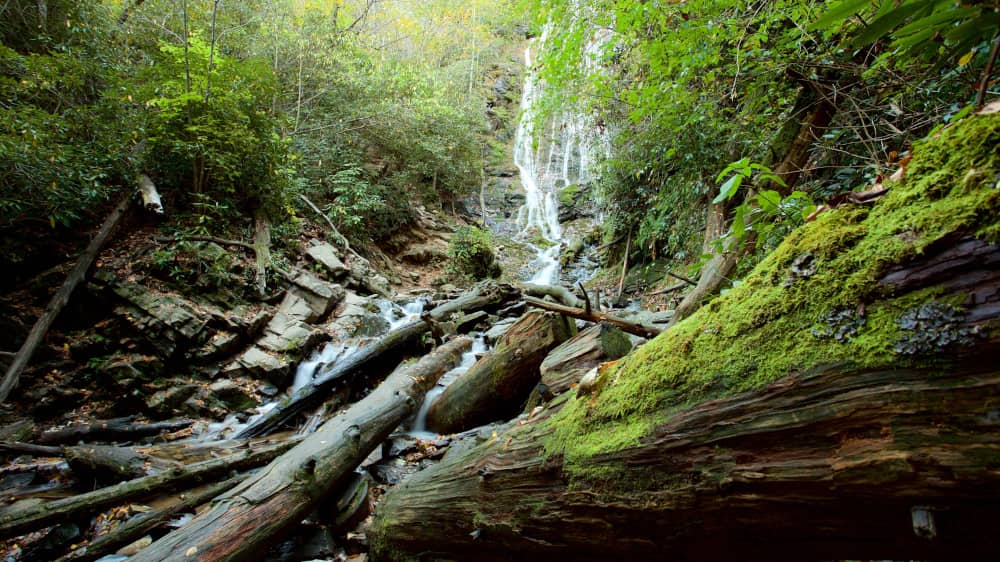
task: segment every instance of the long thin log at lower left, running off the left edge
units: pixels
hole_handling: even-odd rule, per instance
[[[109,507],[156,495],[165,490],[189,488],[212,482],[231,471],[248,470],[269,463],[297,442],[298,440],[292,439],[281,443],[261,444],[257,448],[243,449],[227,457],[143,476],[40,506],[14,504],[4,507],[0,509],[0,538],[17,536],[74,517],[92,515]]]

